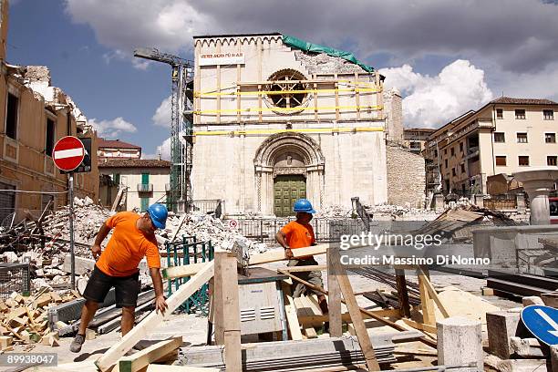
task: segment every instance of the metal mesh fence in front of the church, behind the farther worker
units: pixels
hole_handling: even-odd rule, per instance
[[[275,233],[285,224],[294,221],[294,216],[282,219],[239,219],[237,231],[245,237],[260,243],[274,243]],[[339,242],[341,235],[359,234],[367,232],[361,220],[353,218],[315,218],[310,224],[314,229],[315,240],[318,243]]]

